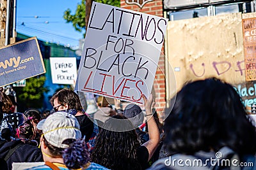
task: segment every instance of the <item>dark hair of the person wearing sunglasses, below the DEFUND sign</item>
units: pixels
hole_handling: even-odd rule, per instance
[[[79,96],[73,90],[61,89],[60,91],[56,92],[56,94],[54,94],[51,98],[52,106],[54,106],[55,99],[57,99],[60,104],[68,104],[68,109],[75,109],[84,113]]]

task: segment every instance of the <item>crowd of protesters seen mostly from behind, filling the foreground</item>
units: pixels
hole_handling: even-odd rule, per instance
[[[1,88],[0,169],[256,169],[256,129],[229,83],[185,83],[163,124],[152,94],[141,97],[143,108],[97,97],[88,115],[77,92],[62,89],[54,112],[18,113]]]

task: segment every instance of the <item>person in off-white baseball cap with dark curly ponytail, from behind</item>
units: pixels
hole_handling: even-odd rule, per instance
[[[40,146],[45,164],[29,169],[107,169],[90,162],[90,152],[81,139],[80,125],[74,115],[57,111],[39,125],[43,132]]]

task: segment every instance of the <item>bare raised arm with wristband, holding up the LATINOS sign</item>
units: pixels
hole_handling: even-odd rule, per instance
[[[157,146],[159,145],[160,134],[151,110],[151,106],[153,102],[152,94],[150,94],[150,97],[148,99],[147,97],[145,97],[144,94],[141,94],[141,96],[144,100],[144,106],[145,106],[146,117],[148,122],[148,136],[149,136],[149,140],[146,143],[144,143],[143,146],[147,147],[148,153],[149,153],[148,160],[150,160],[152,155],[156,151]]]

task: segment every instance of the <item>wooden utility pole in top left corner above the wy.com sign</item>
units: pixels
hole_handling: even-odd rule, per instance
[[[0,0],[0,47],[15,43],[16,0]]]

